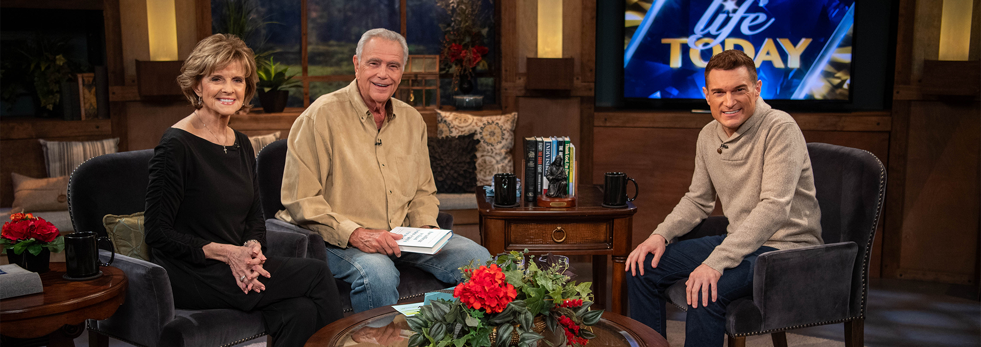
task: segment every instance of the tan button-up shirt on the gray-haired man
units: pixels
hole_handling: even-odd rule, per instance
[[[358,227],[437,225],[426,123],[395,99],[386,112],[380,131],[357,80],[311,104],[289,130],[285,210],[276,218],[338,247],[347,247]]]

